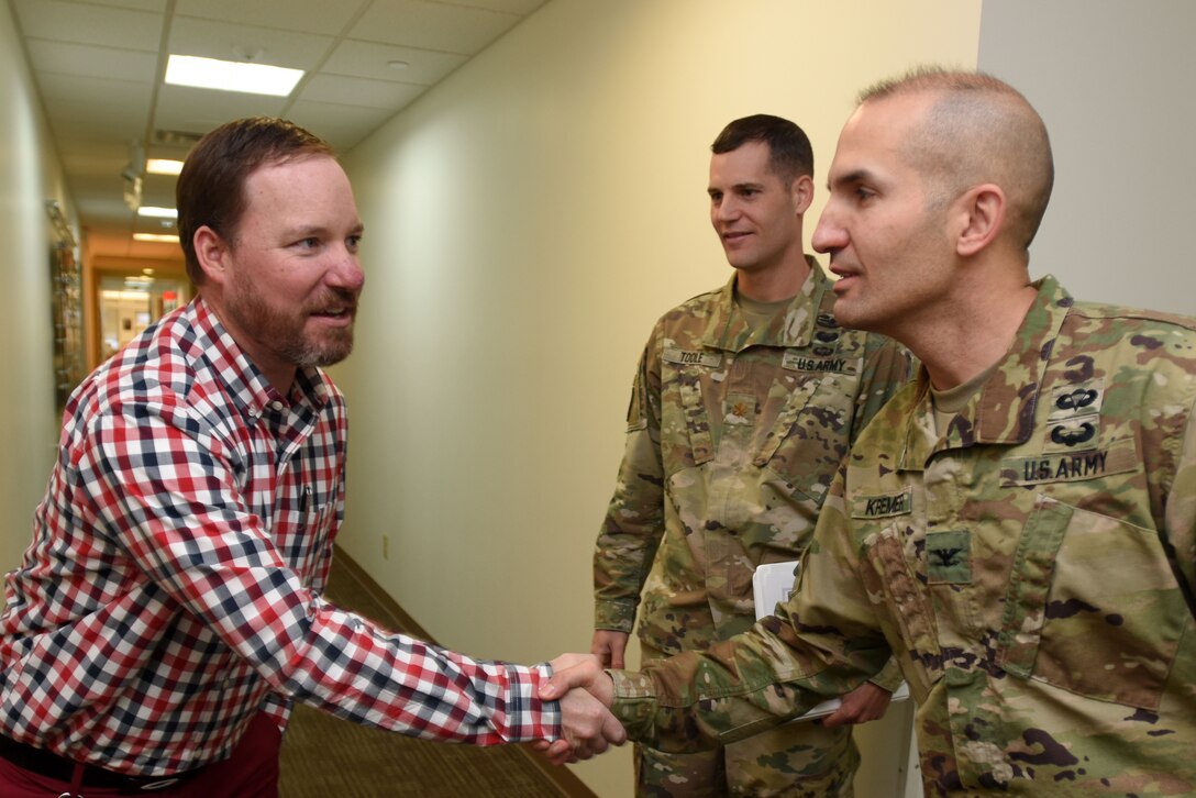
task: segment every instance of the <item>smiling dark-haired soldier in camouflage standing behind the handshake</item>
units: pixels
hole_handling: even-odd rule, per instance
[[[798,126],[732,122],[712,147],[712,223],[736,274],[666,313],[636,374],[627,451],[594,555],[593,651],[622,666],[640,608],[645,660],[755,622],[752,572],[797,560],[838,464],[909,377],[904,352],[842,329],[803,254],[813,156]],[[883,714],[896,666],[853,696]],[[884,688],[883,690],[880,688]],[[874,702],[874,703],[867,703]],[[850,725],[793,724],[725,751],[641,749],[641,796],[850,796]]]

